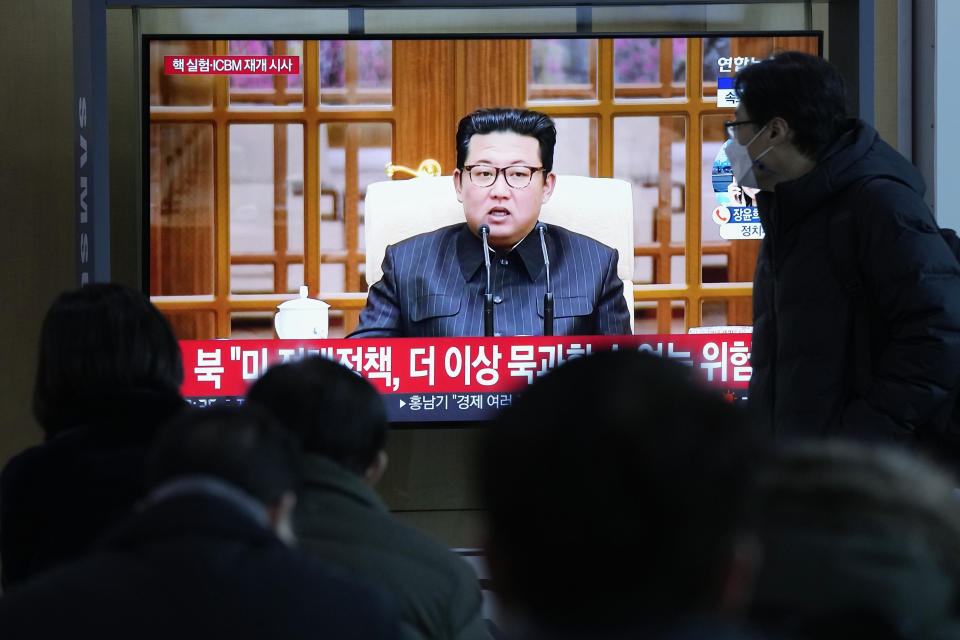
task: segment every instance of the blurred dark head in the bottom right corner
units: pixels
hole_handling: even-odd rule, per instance
[[[892,447],[792,444],[760,474],[752,617],[804,638],[939,638],[960,604],[956,482]],[[886,635],[884,635],[886,634]]]

